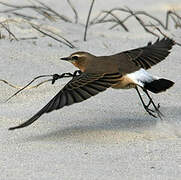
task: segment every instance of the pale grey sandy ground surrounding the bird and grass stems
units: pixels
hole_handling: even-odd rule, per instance
[[[20,5],[25,1],[8,1]],[[43,1],[58,12],[74,18],[66,1]],[[107,25],[91,26],[87,41],[83,33],[88,2],[72,0],[79,10],[79,23],[33,20],[33,23],[56,31],[77,48],[71,49],[30,28],[21,18],[9,23],[17,38],[39,37],[36,40],[10,41],[7,33],[0,40],[0,79],[25,85],[35,76],[73,72],[75,68],[59,60],[78,50],[96,55],[109,55],[146,45],[156,38],[143,31],[135,21],[109,30]],[[28,3],[28,2],[27,2]],[[181,7],[175,1],[98,0],[92,17],[101,10],[127,6],[146,10],[164,19],[168,8]],[[0,9],[5,9],[0,6]],[[7,9],[7,8],[6,8]],[[28,10],[22,11],[34,15]],[[32,13],[32,14],[31,14]],[[35,13],[35,15],[37,15]],[[37,15],[38,16],[38,15]],[[8,18],[1,14],[1,21]],[[12,17],[11,17],[12,18]],[[15,18],[15,17],[14,17]],[[181,43],[180,29],[170,27],[168,34]],[[181,80],[180,47],[175,46],[169,57],[149,70],[150,73],[175,81],[175,86],[162,94],[152,94],[161,105],[164,120],[145,113],[135,90],[112,90],[83,103],[43,115],[33,125],[17,130],[17,125],[42,108],[68,81],[62,79],[51,85],[25,90],[11,101],[4,101],[16,92],[0,82],[0,179],[181,179]],[[40,81],[38,81],[40,82]]]

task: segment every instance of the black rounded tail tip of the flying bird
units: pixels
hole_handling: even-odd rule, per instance
[[[166,91],[173,85],[174,85],[173,81],[164,78],[154,79],[151,82],[144,82],[144,88],[153,93],[160,93]]]

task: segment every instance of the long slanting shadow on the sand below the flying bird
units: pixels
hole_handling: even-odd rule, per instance
[[[135,134],[142,129],[149,129],[156,125],[157,120],[140,120],[140,119],[112,119],[100,120],[97,123],[90,123],[89,125],[73,125],[67,128],[60,128],[52,130],[45,134],[33,135],[26,137],[24,141],[101,141],[106,137],[117,139],[117,135],[125,136],[126,134]],[[122,134],[122,135],[121,135]],[[121,137],[120,137],[121,138]]]

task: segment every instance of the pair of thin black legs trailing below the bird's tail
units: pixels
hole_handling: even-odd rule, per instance
[[[146,93],[146,95],[147,95],[148,98],[149,98],[149,102],[148,102],[148,104],[146,105],[145,102],[143,101],[143,98],[142,98],[139,90],[138,90],[138,87],[136,87],[135,89],[136,89],[136,91],[137,91],[137,93],[138,93],[138,95],[139,95],[139,98],[140,98],[140,100],[141,100],[141,102],[142,102],[142,104],[143,104],[143,107],[144,107],[144,109],[146,110],[146,112],[148,112],[149,115],[157,118],[157,116],[156,116],[155,114],[153,114],[153,113],[156,112],[156,113],[158,114],[158,116],[161,118],[161,115],[162,115],[162,114],[161,114],[161,112],[159,111],[159,106],[156,107],[155,103],[153,102],[153,100],[152,100],[152,98],[150,97],[150,95],[148,94],[148,92],[143,89],[143,91]],[[153,105],[153,107],[155,108],[156,111],[154,111],[154,110],[152,110],[152,109],[149,109],[150,104]]]

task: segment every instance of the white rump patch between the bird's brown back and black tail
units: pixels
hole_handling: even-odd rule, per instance
[[[151,74],[149,74],[146,70],[144,70],[143,68],[141,68],[138,71],[135,71],[134,73],[130,73],[126,75],[128,78],[130,78],[133,82],[135,82],[136,84],[138,84],[139,86],[143,87],[144,86],[144,82],[151,82],[153,80],[159,79],[155,76],[152,76]]]

